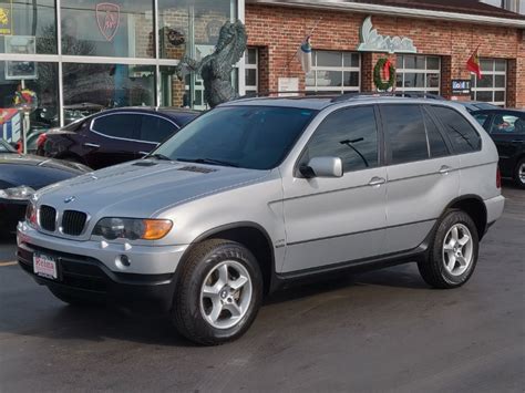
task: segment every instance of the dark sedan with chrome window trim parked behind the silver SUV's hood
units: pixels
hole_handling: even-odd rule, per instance
[[[99,112],[42,134],[38,154],[100,169],[145,156],[198,114],[146,107]]]

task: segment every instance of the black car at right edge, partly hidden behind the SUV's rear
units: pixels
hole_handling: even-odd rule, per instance
[[[525,112],[496,108],[471,115],[496,144],[502,176],[513,178],[518,187],[525,188]]]

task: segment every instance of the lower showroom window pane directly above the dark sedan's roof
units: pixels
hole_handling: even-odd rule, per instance
[[[155,66],[63,64],[64,123],[109,107],[155,105]]]

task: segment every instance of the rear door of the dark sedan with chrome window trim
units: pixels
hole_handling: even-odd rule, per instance
[[[110,113],[93,118],[90,142],[84,143],[87,165],[99,169],[135,159],[141,124],[138,113]]]

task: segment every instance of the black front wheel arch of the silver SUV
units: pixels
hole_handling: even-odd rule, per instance
[[[197,236],[184,252],[181,263],[178,263],[175,276],[179,277],[179,268],[184,265],[186,257],[192,252],[194,247],[209,239],[226,239],[237,241],[248,248],[257,258],[262,273],[265,294],[271,292],[275,287],[275,250],[272,241],[267,230],[257,223],[238,221],[222,225],[209,229]]]

